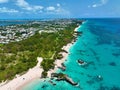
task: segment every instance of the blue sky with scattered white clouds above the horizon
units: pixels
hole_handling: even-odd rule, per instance
[[[120,0],[0,0],[0,19],[120,17]]]

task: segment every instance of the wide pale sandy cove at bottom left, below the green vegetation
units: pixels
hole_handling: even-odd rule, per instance
[[[32,69],[22,76],[17,75],[16,78],[9,81],[8,83],[1,83],[0,90],[19,90],[20,87],[24,86],[25,84],[29,83],[30,81],[40,78],[43,69],[40,67],[40,63],[42,62],[43,58],[37,58],[38,63]]]

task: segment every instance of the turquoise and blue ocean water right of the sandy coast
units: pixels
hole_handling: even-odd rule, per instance
[[[69,50],[67,74],[78,86],[65,81],[35,80],[23,90],[120,90],[120,19],[88,19],[80,26],[82,36]],[[80,66],[77,60],[88,64]],[[101,78],[99,78],[99,76]]]

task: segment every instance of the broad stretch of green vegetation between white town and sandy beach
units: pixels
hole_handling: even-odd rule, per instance
[[[46,77],[47,71],[54,68],[55,59],[62,58],[59,54],[61,48],[74,38],[75,27],[76,23],[72,23],[64,30],[54,33],[36,32],[20,42],[0,44],[0,82],[34,67],[37,57],[44,59],[41,66],[44,69],[43,77]]]

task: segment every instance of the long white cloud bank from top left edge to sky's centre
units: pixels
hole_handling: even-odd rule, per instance
[[[59,3],[56,6],[47,6],[43,7],[41,5],[30,5],[25,0],[16,0],[16,5],[21,9],[26,10],[24,13],[31,13],[34,12],[35,14],[43,13],[43,14],[69,14],[67,10],[65,10]]]

